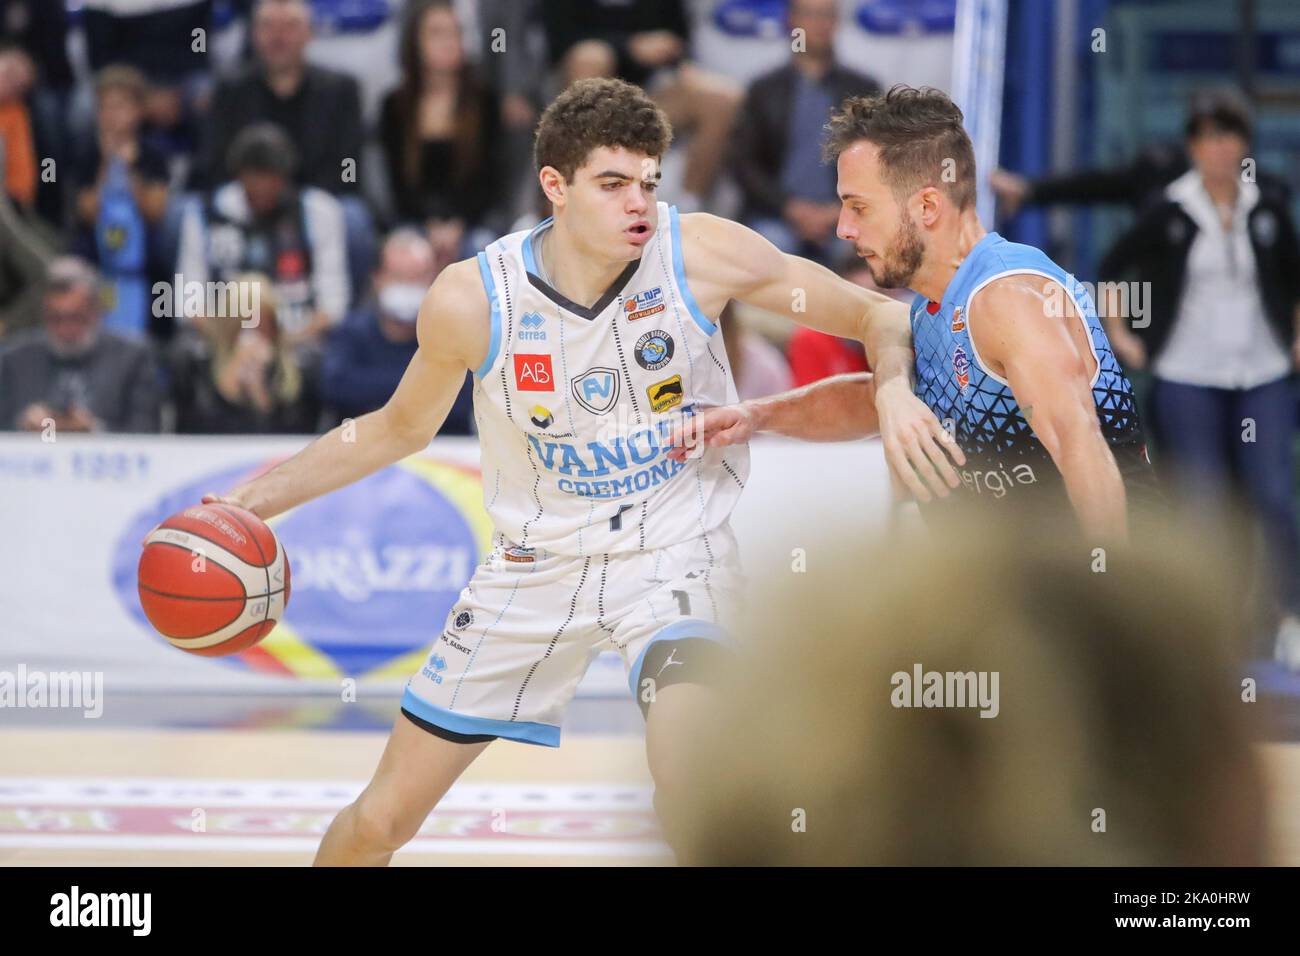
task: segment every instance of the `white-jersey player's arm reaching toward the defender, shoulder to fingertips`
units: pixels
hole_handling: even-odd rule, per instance
[[[786,255],[753,229],[718,216],[682,216],[681,241],[686,281],[708,315],[734,298],[862,342],[874,371],[872,415],[894,473],[920,501],[946,497],[961,484],[948,459],[965,464],[966,457],[911,390],[915,359],[906,306]]]

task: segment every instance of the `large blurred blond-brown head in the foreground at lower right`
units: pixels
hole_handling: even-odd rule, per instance
[[[751,654],[664,808],[679,860],[1262,862],[1238,579],[1188,545],[810,541],[751,589]]]

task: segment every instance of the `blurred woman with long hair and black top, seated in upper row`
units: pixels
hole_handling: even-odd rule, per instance
[[[380,138],[396,219],[426,229],[443,263],[495,238],[469,232],[508,195],[500,101],[465,60],[450,0],[413,0],[400,40],[402,83],[384,99]],[[499,224],[503,225],[503,224]]]

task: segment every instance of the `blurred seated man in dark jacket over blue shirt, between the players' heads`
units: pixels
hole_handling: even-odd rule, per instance
[[[823,126],[848,96],[880,91],[871,77],[835,60],[835,0],[792,0],[789,25],[803,31],[790,61],[755,79],[732,138],[731,168],[745,193],[745,221],[785,252],[836,256],[836,170],[822,161]]]

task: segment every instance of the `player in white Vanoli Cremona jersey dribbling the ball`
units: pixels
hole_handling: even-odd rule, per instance
[[[672,460],[667,434],[697,406],[737,399],[715,324],[728,299],[863,341],[879,380],[906,381],[906,307],[734,222],[655,202],[671,135],[634,86],[569,87],[536,139],[554,216],[443,271],[415,358],[389,403],[354,423],[355,441],[334,429],[221,498],[266,519],[420,451],[474,373],[493,550],[317,864],[387,864],[497,737],[556,747],[604,648],[621,654],[646,715],[656,805],[680,792],[673,740],[731,653],[722,624],[740,570],[728,518],[749,450]],[[937,420],[907,389],[889,394],[904,397],[888,415],[913,434],[918,464],[937,464]],[[956,486],[948,473],[936,493]]]

